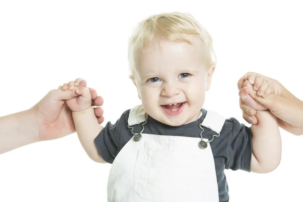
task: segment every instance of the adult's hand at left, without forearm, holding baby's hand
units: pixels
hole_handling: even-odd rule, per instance
[[[75,83],[78,87],[86,87],[86,81],[81,78],[76,79]],[[104,121],[103,109],[99,107],[103,105],[103,98],[97,96],[96,90],[89,88],[89,91],[92,106],[97,106],[94,113],[100,124]],[[75,90],[66,93],[62,89],[54,89],[30,109],[36,122],[39,140],[57,139],[75,132],[72,111],[66,105],[66,100],[73,98],[75,94]]]

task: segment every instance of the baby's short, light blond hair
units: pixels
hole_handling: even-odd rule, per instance
[[[208,68],[216,66],[216,56],[211,35],[192,15],[172,12],[150,16],[138,24],[128,44],[128,61],[131,74],[134,74],[136,54],[142,52],[146,45],[155,37],[164,37],[171,42],[192,44],[190,36],[196,36],[203,42],[205,62]]]

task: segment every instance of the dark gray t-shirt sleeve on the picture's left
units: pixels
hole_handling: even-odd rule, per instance
[[[113,163],[120,151],[119,138],[121,130],[127,127],[129,111],[125,111],[116,123],[108,122],[94,139],[99,155],[108,163]]]

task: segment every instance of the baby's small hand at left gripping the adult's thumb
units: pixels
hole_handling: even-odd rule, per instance
[[[87,87],[77,87],[81,80],[81,78],[78,78],[75,81],[70,81],[59,86],[59,89],[62,89],[63,91],[75,90],[77,96],[65,101],[73,112],[84,111],[91,106],[91,94],[89,89]]]

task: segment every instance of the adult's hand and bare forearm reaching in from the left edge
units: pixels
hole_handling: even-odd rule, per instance
[[[86,87],[86,81],[77,79],[80,87]],[[92,105],[102,106],[103,98],[89,88]],[[75,97],[75,91],[62,89],[49,91],[29,110],[0,117],[0,154],[15,148],[42,140],[64,137],[75,132],[72,112],[66,102]],[[94,109],[98,123],[104,121],[102,108]]]

